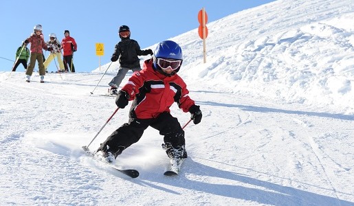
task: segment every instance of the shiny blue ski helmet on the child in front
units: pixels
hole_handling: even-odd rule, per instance
[[[157,65],[157,58],[168,58],[168,59],[174,59],[174,60],[182,60],[183,62],[183,54],[182,54],[182,49],[179,47],[177,43],[174,41],[162,41],[159,43],[155,49],[154,56],[153,56],[153,65],[154,69],[157,71],[162,71],[161,68],[159,68],[159,65]],[[182,65],[181,62],[181,65]],[[181,68],[181,65],[179,65],[179,68],[175,70],[175,73],[179,71]]]

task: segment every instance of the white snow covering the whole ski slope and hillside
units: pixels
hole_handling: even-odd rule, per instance
[[[115,111],[100,94],[117,62],[47,73],[44,84],[38,73],[27,83],[23,71],[0,72],[1,205],[354,205],[353,7],[280,0],[225,16],[208,23],[205,64],[197,28],[171,38],[203,113],[185,128],[188,159],[175,177],[163,175],[168,158],[153,128],[117,159],[137,179],[85,156]],[[184,126],[190,114],[171,109]]]

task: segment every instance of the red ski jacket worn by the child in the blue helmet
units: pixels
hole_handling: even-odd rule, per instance
[[[170,112],[173,102],[184,112],[195,104],[188,96],[184,80],[177,74],[168,77],[155,71],[153,59],[146,60],[143,69],[133,73],[122,91],[129,94],[129,100],[134,100],[129,113],[131,118],[155,118],[164,111]]]

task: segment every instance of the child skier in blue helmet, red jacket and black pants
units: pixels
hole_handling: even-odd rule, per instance
[[[182,61],[181,47],[174,41],[162,41],[157,45],[153,58],[145,60],[143,69],[135,71],[118,91],[115,104],[119,108],[133,100],[129,122],[107,137],[96,155],[112,163],[151,126],[164,136],[164,148],[171,160],[187,157],[184,130],[178,119],[170,114],[170,106],[176,102],[182,111],[189,111],[194,124],[201,122],[202,115],[199,106],[189,97],[186,83],[177,74]]]

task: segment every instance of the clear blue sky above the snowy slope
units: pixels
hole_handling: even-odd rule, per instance
[[[197,28],[201,8],[205,8],[210,23],[269,2],[272,1],[4,1],[0,12],[0,71],[11,71],[16,49],[36,24],[43,25],[45,41],[50,33],[61,41],[64,30],[69,30],[78,43],[74,54],[76,72],[85,72],[98,68],[99,62],[110,62],[114,46],[120,41],[120,25],[128,25],[131,38],[144,49]],[[96,43],[104,44],[104,56],[100,58],[96,56]],[[48,70],[56,71],[54,61]],[[23,66],[19,65],[16,71],[24,71]]]

